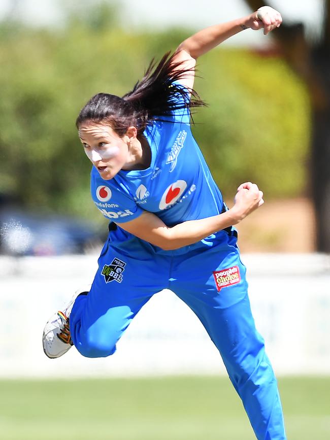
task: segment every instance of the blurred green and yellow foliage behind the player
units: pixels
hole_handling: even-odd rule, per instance
[[[80,108],[97,92],[130,90],[152,57],[191,33],[129,33],[115,9],[100,8],[56,30],[0,24],[0,193],[23,206],[94,213]],[[280,58],[237,49],[211,51],[199,69],[195,88],[209,107],[193,132],[224,194],[245,180],[268,198],[304,193],[310,121],[299,79]]]

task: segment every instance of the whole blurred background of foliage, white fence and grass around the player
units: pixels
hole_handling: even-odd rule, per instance
[[[265,205],[239,225],[256,326],[279,379],[288,438],[330,438],[330,4],[267,3],[274,35],[246,30],[199,59],[208,107],[193,133],[229,206],[255,181]],[[48,317],[92,281],[107,222],[89,194],[75,119],[123,95],[196,30],[262,2],[0,3],[0,438],[249,440],[221,358],[163,291],[112,358],[42,350]]]

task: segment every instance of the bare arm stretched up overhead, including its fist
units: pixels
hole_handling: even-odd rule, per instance
[[[195,33],[179,45],[176,58],[174,59],[175,62],[184,62],[184,67],[191,69],[191,74],[186,75],[182,79],[182,84],[187,88],[193,87],[193,68],[196,59],[223,41],[249,28],[253,30],[263,28],[263,33],[267,35],[273,29],[279,27],[281,23],[282,17],[278,11],[270,6],[263,6],[246,17],[216,24]]]

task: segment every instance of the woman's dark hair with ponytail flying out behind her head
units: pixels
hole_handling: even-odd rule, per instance
[[[119,136],[124,136],[129,126],[141,133],[149,122],[170,116],[175,110],[187,108],[190,112],[193,107],[205,105],[193,89],[176,83],[191,69],[182,67],[184,61],[173,62],[175,55],[166,53],[157,65],[152,60],[141,81],[122,98],[109,93],[94,95],[80,111],[77,127],[87,120],[109,123]]]

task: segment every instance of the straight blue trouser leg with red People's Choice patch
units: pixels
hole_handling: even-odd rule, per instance
[[[234,238],[228,240],[226,248],[222,243],[174,264],[176,281],[171,288],[199,317],[218,348],[257,438],[284,440],[277,382],[255,329],[245,267]]]

